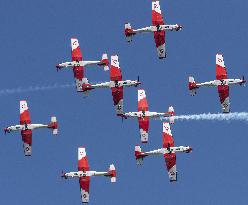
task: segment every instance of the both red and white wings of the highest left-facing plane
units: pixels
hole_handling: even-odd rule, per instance
[[[80,50],[78,39],[71,38],[71,57],[72,61],[82,61],[83,55]],[[74,66],[73,73],[76,83],[77,91],[82,91],[82,84],[84,78],[84,67],[83,66]]]

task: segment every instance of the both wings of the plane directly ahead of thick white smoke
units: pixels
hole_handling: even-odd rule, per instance
[[[145,90],[139,89],[138,90],[138,111],[145,112],[148,111],[148,102],[146,99]],[[148,131],[149,131],[149,117],[139,117],[139,130],[140,130],[140,137],[143,143],[148,141]]]

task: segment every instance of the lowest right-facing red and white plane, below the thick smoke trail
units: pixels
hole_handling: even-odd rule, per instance
[[[170,124],[168,122],[163,123],[163,148],[142,152],[140,146],[135,146],[135,157],[138,165],[142,164],[142,161],[147,156],[159,156],[163,155],[165,158],[166,167],[168,170],[169,179],[171,182],[177,181],[177,169],[176,169],[176,152],[189,153],[192,148],[187,146],[175,147],[174,139],[171,134]]]

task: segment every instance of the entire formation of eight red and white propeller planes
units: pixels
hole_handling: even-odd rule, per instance
[[[133,29],[130,23],[125,24],[125,36],[128,42],[132,41],[133,36],[139,33],[152,32],[157,48],[157,55],[160,59],[166,58],[165,48],[165,35],[166,31],[180,31],[182,26],[178,24],[165,24],[158,0],[152,0],[152,25],[144,28]],[[150,118],[163,118],[166,117],[169,122],[163,122],[162,134],[162,148],[153,151],[142,151],[139,145],[135,146],[135,158],[138,165],[143,163],[144,158],[148,156],[164,156],[166,168],[168,171],[169,180],[171,182],[177,181],[177,168],[176,168],[176,153],[190,153],[192,148],[190,146],[175,146],[174,139],[171,133],[170,124],[174,123],[174,108],[169,106],[168,112],[151,112],[149,111],[146,93],[143,89],[138,89],[138,111],[137,112],[124,112],[123,109],[123,89],[124,87],[131,87],[141,84],[139,77],[137,80],[123,80],[122,71],[118,55],[111,56],[110,67],[110,81],[97,84],[89,83],[86,78],[84,69],[87,66],[98,65],[103,67],[104,71],[109,70],[109,60],[106,53],[102,55],[100,60],[85,61],[83,60],[82,52],[80,50],[78,39],[71,38],[71,55],[70,62],[63,62],[56,65],[57,71],[63,68],[71,68],[74,73],[76,90],[84,94],[89,94],[93,89],[97,88],[110,88],[112,91],[114,107],[117,116],[125,119],[137,118],[139,124],[139,133],[142,143],[148,142],[148,132]],[[227,71],[224,64],[222,54],[216,55],[216,80],[197,83],[193,76],[189,77],[189,90],[191,95],[196,94],[196,90],[202,86],[217,87],[219,98],[221,102],[222,112],[230,112],[229,100],[229,85],[244,85],[244,77],[242,79],[228,79]],[[55,116],[51,117],[48,124],[32,124],[28,105],[25,100],[20,101],[20,124],[4,128],[4,132],[10,133],[20,131],[23,141],[23,149],[25,156],[31,156],[32,153],[32,132],[34,129],[48,128],[52,130],[54,135],[58,134],[58,122]],[[78,170],[75,172],[63,172],[61,177],[64,179],[78,178],[80,185],[81,201],[83,203],[89,202],[90,180],[93,176],[105,176],[110,178],[111,182],[116,182],[116,169],[114,164],[109,166],[107,171],[98,172],[90,170],[86,150],[84,147],[78,148]]]

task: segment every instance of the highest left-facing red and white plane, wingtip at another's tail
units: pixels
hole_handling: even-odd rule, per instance
[[[74,78],[76,82],[76,89],[78,92],[82,90],[82,85],[85,84],[87,78],[85,78],[84,75],[84,67],[90,66],[90,65],[99,65],[103,66],[105,71],[109,70],[109,60],[108,56],[106,53],[102,55],[101,60],[97,61],[84,61],[83,60],[83,55],[80,50],[79,42],[78,39],[76,38],[71,38],[71,55],[72,55],[72,61],[71,62],[65,62],[65,63],[60,63],[56,65],[57,71],[61,70],[62,68],[72,68],[73,73],[74,73]]]

